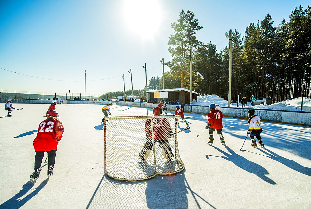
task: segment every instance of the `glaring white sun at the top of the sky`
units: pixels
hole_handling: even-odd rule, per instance
[[[160,29],[162,11],[158,0],[125,0],[124,14],[128,27],[143,39],[152,39]]]

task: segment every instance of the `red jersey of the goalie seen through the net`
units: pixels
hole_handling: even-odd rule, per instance
[[[172,129],[166,118],[153,118],[153,134],[156,140],[167,140],[167,134],[171,133]],[[147,119],[145,124],[145,132],[149,133],[148,138],[152,138],[151,120]]]

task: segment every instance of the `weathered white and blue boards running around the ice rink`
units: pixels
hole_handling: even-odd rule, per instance
[[[33,104],[51,104],[53,100],[41,100],[41,99],[12,99],[14,103],[33,103]],[[7,102],[7,99],[0,99],[0,102]],[[64,100],[64,104],[100,104],[106,105],[109,101],[83,101],[83,100]],[[146,102],[117,102],[112,101],[116,105],[131,106],[131,107],[143,107],[151,108],[157,107],[158,104],[146,103]],[[57,101],[59,104],[59,100]],[[176,105],[167,104],[168,110],[174,113]],[[226,117],[245,118],[248,119],[248,108],[241,107],[221,107],[221,111]],[[311,112],[309,111],[288,111],[288,110],[271,110],[271,109],[254,109],[255,114],[258,115],[261,120],[281,122],[288,124],[306,125],[311,126]],[[186,105],[185,112],[192,112],[198,114],[207,115],[209,112],[209,106],[200,105]]]

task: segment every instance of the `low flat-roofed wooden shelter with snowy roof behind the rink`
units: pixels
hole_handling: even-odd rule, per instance
[[[179,101],[179,104],[181,102],[185,101],[186,104],[190,104],[190,90],[184,89],[184,88],[178,88],[178,89],[159,89],[159,90],[150,90],[147,91],[148,93],[148,101],[155,101],[160,102],[160,100],[164,100],[166,102],[169,101]],[[198,93],[195,91],[192,91],[192,98],[197,100]]]

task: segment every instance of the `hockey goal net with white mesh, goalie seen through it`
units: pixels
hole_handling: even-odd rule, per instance
[[[179,118],[104,117],[105,174],[139,181],[182,171],[176,134]]]

